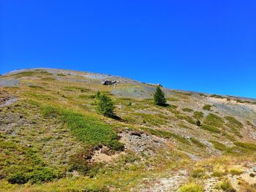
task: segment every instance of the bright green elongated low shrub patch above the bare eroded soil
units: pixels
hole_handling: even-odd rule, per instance
[[[50,106],[43,107],[42,114],[46,118],[60,118],[72,134],[86,145],[106,145],[114,150],[123,148],[116,131],[96,118]]]

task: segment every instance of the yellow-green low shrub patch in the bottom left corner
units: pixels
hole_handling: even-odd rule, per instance
[[[64,176],[64,170],[46,164],[34,147],[0,137],[0,177],[9,183],[43,183]]]

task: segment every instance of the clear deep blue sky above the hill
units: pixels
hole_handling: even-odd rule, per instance
[[[0,73],[50,67],[256,98],[256,1],[0,0]]]

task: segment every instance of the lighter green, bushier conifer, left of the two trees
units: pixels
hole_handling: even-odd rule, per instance
[[[97,108],[96,110],[106,117],[113,117],[114,113],[114,105],[113,101],[108,97],[105,96],[104,93],[97,94]]]

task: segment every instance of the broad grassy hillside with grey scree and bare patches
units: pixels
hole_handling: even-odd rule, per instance
[[[159,107],[156,87],[63,69],[3,74],[0,191],[255,191],[256,100],[162,88]],[[97,91],[118,119],[97,113]]]

